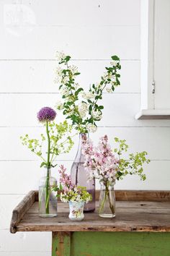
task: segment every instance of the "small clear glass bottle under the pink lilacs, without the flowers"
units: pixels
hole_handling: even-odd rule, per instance
[[[115,217],[115,190],[114,185],[101,184],[99,195],[99,216],[103,218]]]

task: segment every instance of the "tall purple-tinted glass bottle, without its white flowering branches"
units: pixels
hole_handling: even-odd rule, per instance
[[[84,155],[82,153],[82,140],[88,134],[81,133],[79,135],[79,148],[76,153],[76,158],[71,166],[71,182],[78,186],[86,187],[86,190],[91,194],[92,200],[84,205],[84,212],[94,212],[95,210],[95,181],[88,181],[84,168]]]

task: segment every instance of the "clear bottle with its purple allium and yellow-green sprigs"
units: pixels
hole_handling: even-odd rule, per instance
[[[46,135],[41,134],[39,140],[30,139],[29,135],[21,137],[22,144],[42,160],[40,167],[45,167],[45,176],[42,176],[39,184],[39,215],[47,218],[57,216],[56,192],[53,190],[57,181],[51,176],[51,168],[57,165],[57,156],[68,153],[73,146],[71,126],[67,121],[55,124],[55,116],[53,108],[41,108],[37,113],[37,119],[45,127]],[[43,149],[45,155],[42,154]]]

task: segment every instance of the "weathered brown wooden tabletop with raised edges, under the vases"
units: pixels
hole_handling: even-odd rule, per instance
[[[63,202],[58,202],[58,216],[56,218],[40,218],[38,216],[38,202],[35,202],[29,210],[27,209],[27,213],[18,213],[19,216],[22,216],[21,221],[18,221],[21,219],[20,217],[17,218],[17,221],[16,218],[12,218],[15,221],[15,226],[13,224],[14,227],[11,232],[170,231],[170,192],[118,191],[116,195],[117,199],[124,199],[122,201],[117,200],[116,218],[100,218],[96,210],[94,213],[86,213],[84,221],[73,222],[68,218],[68,204]],[[152,197],[157,202],[151,201]],[[35,199],[37,200],[37,192],[34,194]],[[161,199],[163,202],[158,202]],[[28,207],[27,202],[25,204]],[[17,209],[21,210],[27,207],[24,207],[22,202],[21,207]]]

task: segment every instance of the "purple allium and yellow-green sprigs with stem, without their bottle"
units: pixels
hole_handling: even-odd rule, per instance
[[[68,153],[72,146],[73,140],[70,135],[71,125],[68,125],[67,121],[63,123],[55,124],[53,121],[55,119],[56,113],[53,108],[44,107],[41,108],[37,113],[37,119],[45,126],[46,136],[41,134],[40,140],[30,139],[29,135],[21,136],[22,144],[26,145],[32,153],[35,153],[41,160],[42,163],[40,167],[45,166],[47,170],[47,175],[45,178],[45,188],[42,190],[41,195],[39,195],[39,209],[42,200],[42,196],[45,193],[45,214],[49,215],[49,199],[50,199],[50,168],[55,167],[54,164],[56,158],[61,153]],[[47,149],[45,149],[45,155],[42,154],[43,144],[46,143]],[[46,148],[45,147],[45,148]],[[42,209],[43,211],[43,209]]]

